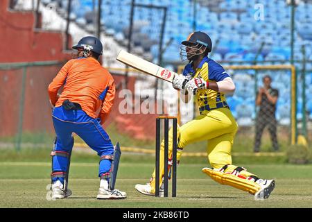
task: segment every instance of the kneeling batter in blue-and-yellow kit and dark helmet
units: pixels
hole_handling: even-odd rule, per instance
[[[178,128],[177,161],[185,146],[206,140],[212,169],[203,168],[202,172],[222,185],[248,191],[255,199],[268,198],[275,187],[274,180],[263,180],[243,167],[232,164],[231,149],[238,125],[229,110],[225,94],[233,93],[235,85],[223,67],[208,58],[212,46],[210,37],[202,32],[191,33],[182,45],[180,55],[190,62],[184,67],[183,75],[175,76],[173,87],[180,89],[184,97],[188,93],[196,95],[200,116]],[[172,143],[172,131],[169,131],[169,157],[172,155]],[[164,141],[159,159],[159,180],[162,180]],[[142,194],[155,195],[155,171],[147,185],[136,185],[135,188]],[[160,188],[162,191],[162,185]]]

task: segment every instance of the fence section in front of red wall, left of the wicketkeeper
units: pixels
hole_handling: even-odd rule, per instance
[[[53,126],[47,87],[60,62],[0,64],[0,147],[44,146]]]

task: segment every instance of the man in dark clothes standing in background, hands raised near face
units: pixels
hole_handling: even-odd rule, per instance
[[[268,125],[272,146],[274,151],[279,150],[277,144],[277,120],[275,110],[279,91],[271,87],[272,79],[270,76],[263,77],[264,87],[259,89],[256,104],[260,106],[256,121],[256,138],[254,141],[254,152],[260,151],[261,137],[264,128]]]

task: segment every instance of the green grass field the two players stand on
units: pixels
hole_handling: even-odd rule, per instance
[[[130,153],[122,155],[116,182],[116,188],[126,191],[128,198],[96,200],[98,157],[78,151],[73,152],[70,169],[69,188],[73,195],[63,200],[47,200],[51,171],[48,153],[38,150],[13,155],[12,151],[3,151],[0,207],[312,207],[311,164],[260,164],[257,161],[242,164],[263,178],[276,180],[270,198],[256,201],[250,194],[219,185],[202,173],[202,167],[209,167],[205,158],[185,157],[177,169],[177,198],[155,198],[139,194],[134,188],[137,183],[148,182],[154,166],[153,155]]]

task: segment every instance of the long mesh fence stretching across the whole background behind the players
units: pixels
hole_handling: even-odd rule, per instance
[[[52,146],[55,135],[47,87],[60,67],[62,64],[54,61],[0,64],[0,148],[20,150]],[[304,81],[297,78],[296,90],[291,81],[289,67],[227,68],[236,83],[236,92],[232,96],[227,96],[227,102],[240,126],[234,151],[252,151],[254,147],[258,110],[255,106],[255,92],[261,87],[264,75],[272,76],[272,87],[279,89],[276,118],[277,139],[281,150],[294,142],[294,135],[303,134],[304,127],[306,138],[311,140],[312,103],[309,99],[302,98],[302,83],[305,85],[304,93],[308,97],[312,92],[312,72],[306,71]],[[130,69],[128,70],[130,76],[125,83],[125,69],[108,69],[116,83],[116,96],[104,128],[113,143],[120,142],[123,148],[132,148],[129,151],[136,151],[135,148],[152,151],[155,148],[157,116],[177,116],[183,124],[198,114],[193,103],[179,101],[178,93],[170,83],[164,83],[163,89],[155,91],[153,76]],[[301,73],[297,70],[295,76],[298,77],[299,74]],[[297,96],[292,92],[297,93]],[[302,103],[306,112],[302,112]],[[85,146],[78,137],[75,141],[76,146]],[[262,142],[261,151],[271,151],[270,135],[267,130],[264,131]],[[206,146],[196,144],[190,146],[186,149],[186,153],[205,152]]]

